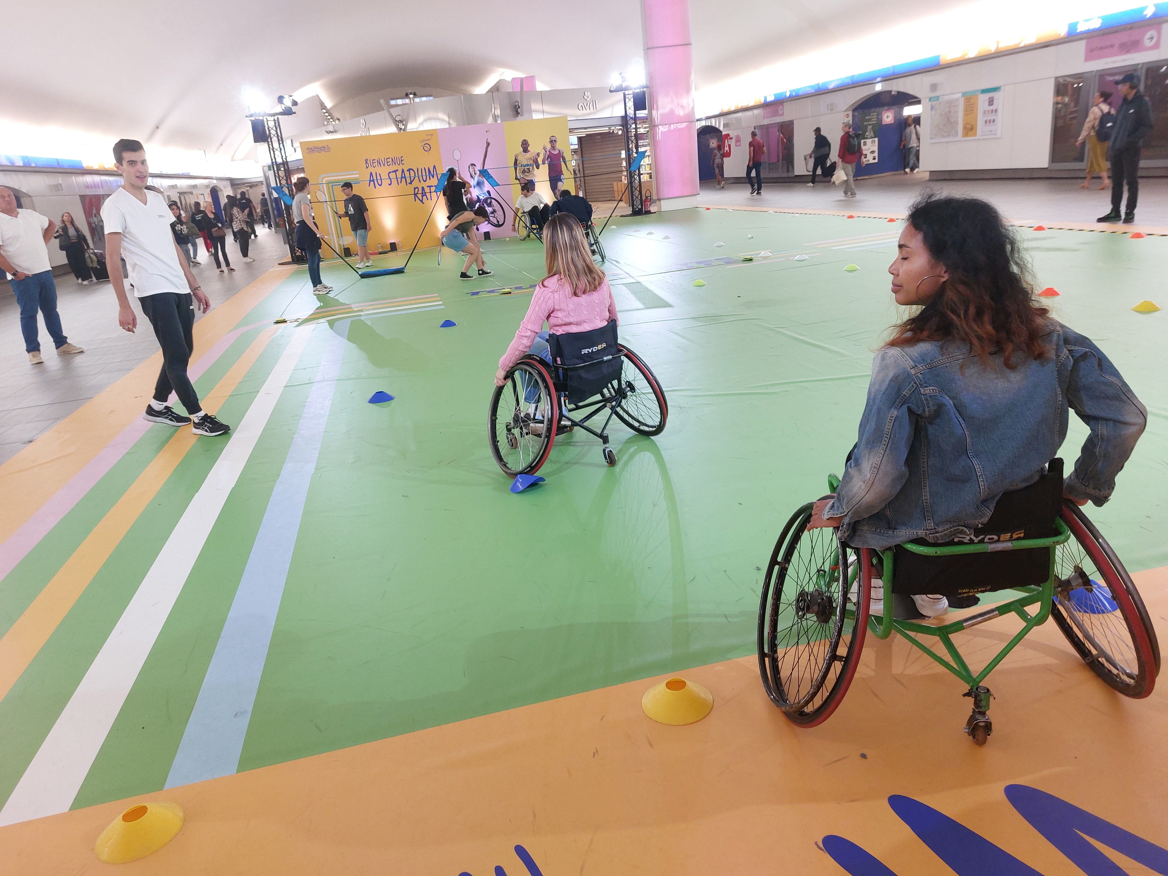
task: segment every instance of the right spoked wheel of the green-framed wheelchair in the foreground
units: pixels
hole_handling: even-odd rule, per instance
[[[1063,522],[1072,537],[1055,556],[1055,623],[1107,684],[1125,696],[1148,696],[1160,672],[1160,644],[1143,600],[1078,506],[1063,503]]]

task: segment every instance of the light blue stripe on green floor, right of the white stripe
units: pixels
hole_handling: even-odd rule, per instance
[[[272,489],[231,611],[166,778],[166,787],[230,776],[239,766],[308,485],[333,404],[347,328],[348,324],[327,333],[325,354],[308,402]]]

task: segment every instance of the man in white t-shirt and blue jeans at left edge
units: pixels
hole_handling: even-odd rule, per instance
[[[32,364],[43,364],[41,340],[36,332],[36,312],[44,318],[44,327],[53,338],[58,356],[84,353],[69,343],[61,329],[57,313],[57,286],[53,281],[53,265],[46,246],[56,230],[56,223],[35,210],[16,208],[16,194],[0,186],[0,270],[12,278],[12,291],[20,305],[20,331],[25,335],[25,352]]]

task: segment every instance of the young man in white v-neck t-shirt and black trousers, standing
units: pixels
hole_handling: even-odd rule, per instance
[[[119,259],[126,259],[138,304],[154,328],[162,348],[162,370],[154,384],[154,398],[142,415],[151,423],[182,426],[193,423],[195,434],[220,436],[231,431],[202,409],[187,376],[195,349],[195,305],[207,313],[211,303],[187,265],[187,258],[171,232],[171,208],[158,192],[146,188],[150,167],[146,150],[138,140],[113,144],[113,166],[121,174],[121,188],[102,204],[105,223],[105,260],[113,265],[110,283],[118,296],[118,325],[126,332],[138,327],[138,317],[126,297]],[[167,404],[174,391],[187,409],[183,417]]]

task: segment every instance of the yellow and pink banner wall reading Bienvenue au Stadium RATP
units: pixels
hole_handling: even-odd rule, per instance
[[[492,125],[305,140],[300,151],[305,175],[312,183],[317,224],[329,243],[338,250],[346,245],[354,248],[348,221],[338,216],[343,213],[341,183],[348,181],[353,183],[354,194],[361,195],[369,208],[369,249],[376,251],[378,244],[385,244],[388,249],[394,241],[399,249],[409,250],[419,235],[418,245],[422,248],[434,246],[439,242],[446,225],[446,206],[442,194],[434,190],[434,183],[447,167],[457,168],[471,183],[473,200],[494,199],[493,209],[488,211],[501,224],[484,223],[479,227],[480,235],[491,231],[492,237],[512,235],[514,203],[519,197],[516,179],[531,175],[536,190],[551,201],[548,169],[549,159],[552,167],[556,165],[552,145],[563,153],[558,166],[564,175],[564,186],[575,192],[568,138],[568,117],[556,116]],[[527,152],[521,146],[523,140],[528,141]],[[484,166],[498,186],[492,186],[481,175]],[[320,201],[321,195],[328,204]]]

